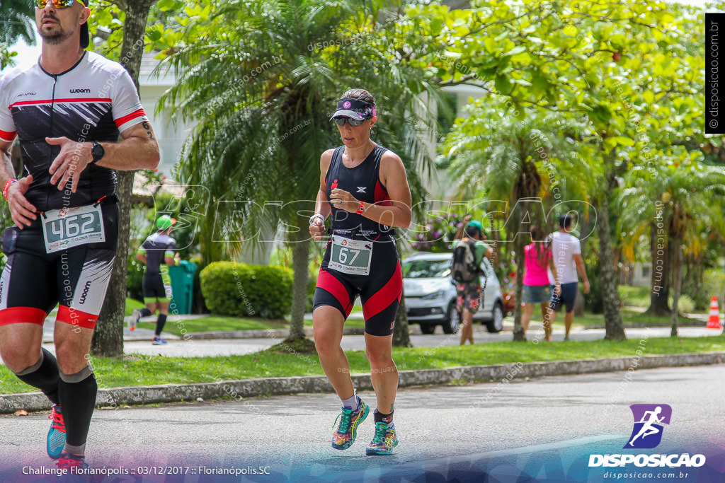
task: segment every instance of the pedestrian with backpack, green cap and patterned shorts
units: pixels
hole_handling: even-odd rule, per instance
[[[470,217],[466,217],[468,221]],[[480,308],[481,302],[481,262],[484,256],[491,259],[493,250],[484,243],[484,227],[481,222],[471,220],[463,230],[459,230],[453,243],[451,276],[456,284],[457,310],[462,314],[460,324],[460,345],[468,340],[473,344],[473,314]]]

